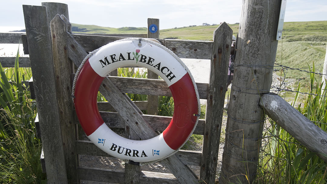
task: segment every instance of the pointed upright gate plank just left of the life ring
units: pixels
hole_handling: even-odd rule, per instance
[[[47,6],[54,5],[57,9],[58,5],[55,3],[47,3]],[[67,8],[67,5],[64,6]],[[62,8],[63,9],[63,8]],[[67,9],[68,11],[68,9]],[[75,124],[76,116],[74,111],[74,104],[71,97],[72,83],[70,80],[73,68],[67,53],[66,33],[69,30],[70,23],[61,15],[57,14],[50,22],[51,38],[52,38],[52,53],[54,63],[54,74],[56,77],[56,94],[58,107],[60,109],[60,125],[61,137],[65,155],[65,163],[67,169],[68,183],[76,183],[77,177],[77,154],[75,147],[76,130]]]

